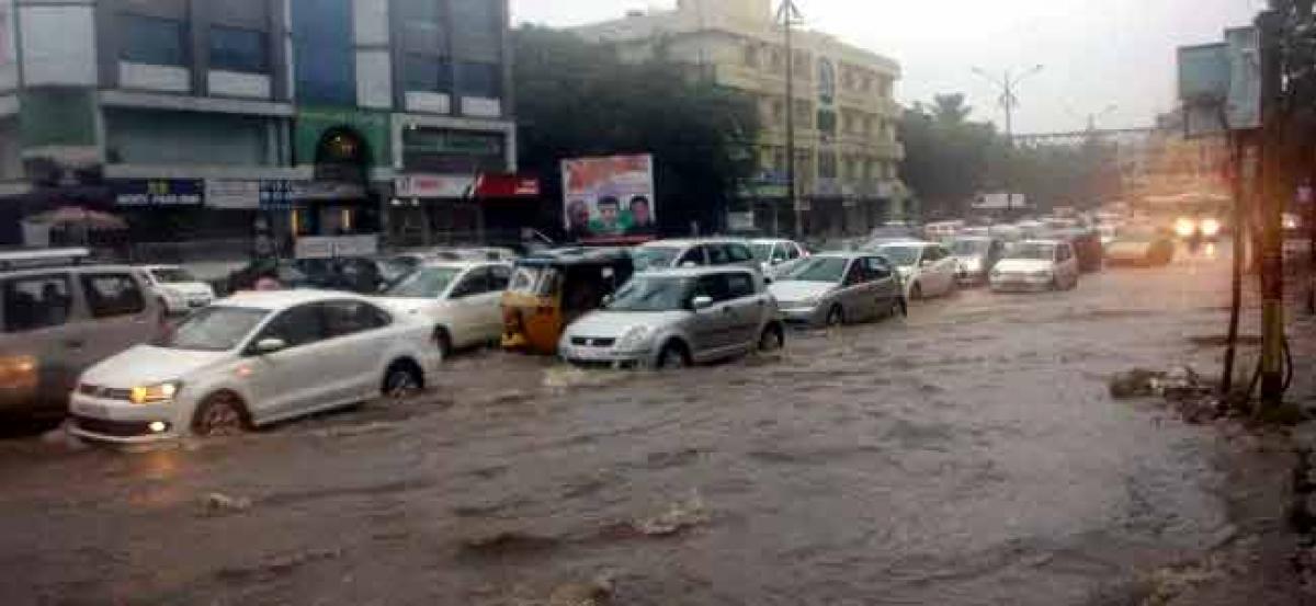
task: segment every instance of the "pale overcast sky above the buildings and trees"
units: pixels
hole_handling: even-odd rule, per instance
[[[576,25],[675,0],[511,0],[512,21]],[[1175,47],[1215,42],[1265,0],[796,0],[807,26],[900,62],[903,103],[965,92],[1003,124],[992,72],[1044,64],[1019,91],[1020,133],[1145,126],[1174,106]],[[775,1],[774,1],[775,5]]]

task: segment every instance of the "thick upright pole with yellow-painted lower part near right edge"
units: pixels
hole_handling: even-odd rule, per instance
[[[1275,409],[1284,396],[1284,258],[1283,258],[1283,135],[1284,112],[1282,37],[1283,1],[1257,17],[1261,35],[1261,406]]]

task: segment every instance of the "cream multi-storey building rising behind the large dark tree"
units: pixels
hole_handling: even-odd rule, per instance
[[[786,187],[787,110],[795,112],[796,188],[808,234],[862,234],[903,217],[908,193],[899,176],[904,147],[896,138],[901,108],[892,97],[900,67],[808,30],[795,33],[794,57],[787,59],[772,8],[770,0],[679,0],[675,11],[632,12],[575,32],[612,45],[628,60],[661,53],[690,63],[757,101],[763,125],[754,150],[759,174],[741,188],[740,210],[753,210],[759,229],[794,230],[796,213]],[[790,104],[787,60],[795,62]]]

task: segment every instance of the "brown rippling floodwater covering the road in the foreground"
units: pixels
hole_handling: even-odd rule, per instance
[[[1208,429],[1111,373],[1217,352],[1228,263],[966,291],[780,355],[434,394],[222,443],[0,443],[5,603],[1084,605],[1232,530]],[[212,493],[246,502],[207,502]]]

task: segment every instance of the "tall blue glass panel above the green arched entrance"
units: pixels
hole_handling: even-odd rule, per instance
[[[292,60],[300,103],[355,105],[350,0],[292,0]]]

